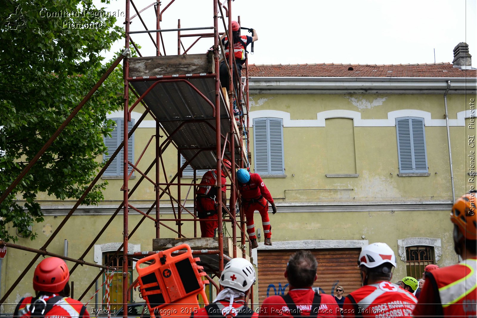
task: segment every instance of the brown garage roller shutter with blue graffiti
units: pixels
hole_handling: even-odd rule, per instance
[[[286,295],[288,281],[283,276],[288,259],[296,250],[259,250],[257,252],[259,304],[274,295]],[[335,296],[336,286],[344,288],[343,296],[360,288],[361,277],[356,265],[361,248],[313,249],[318,262],[318,279],[313,287]]]

